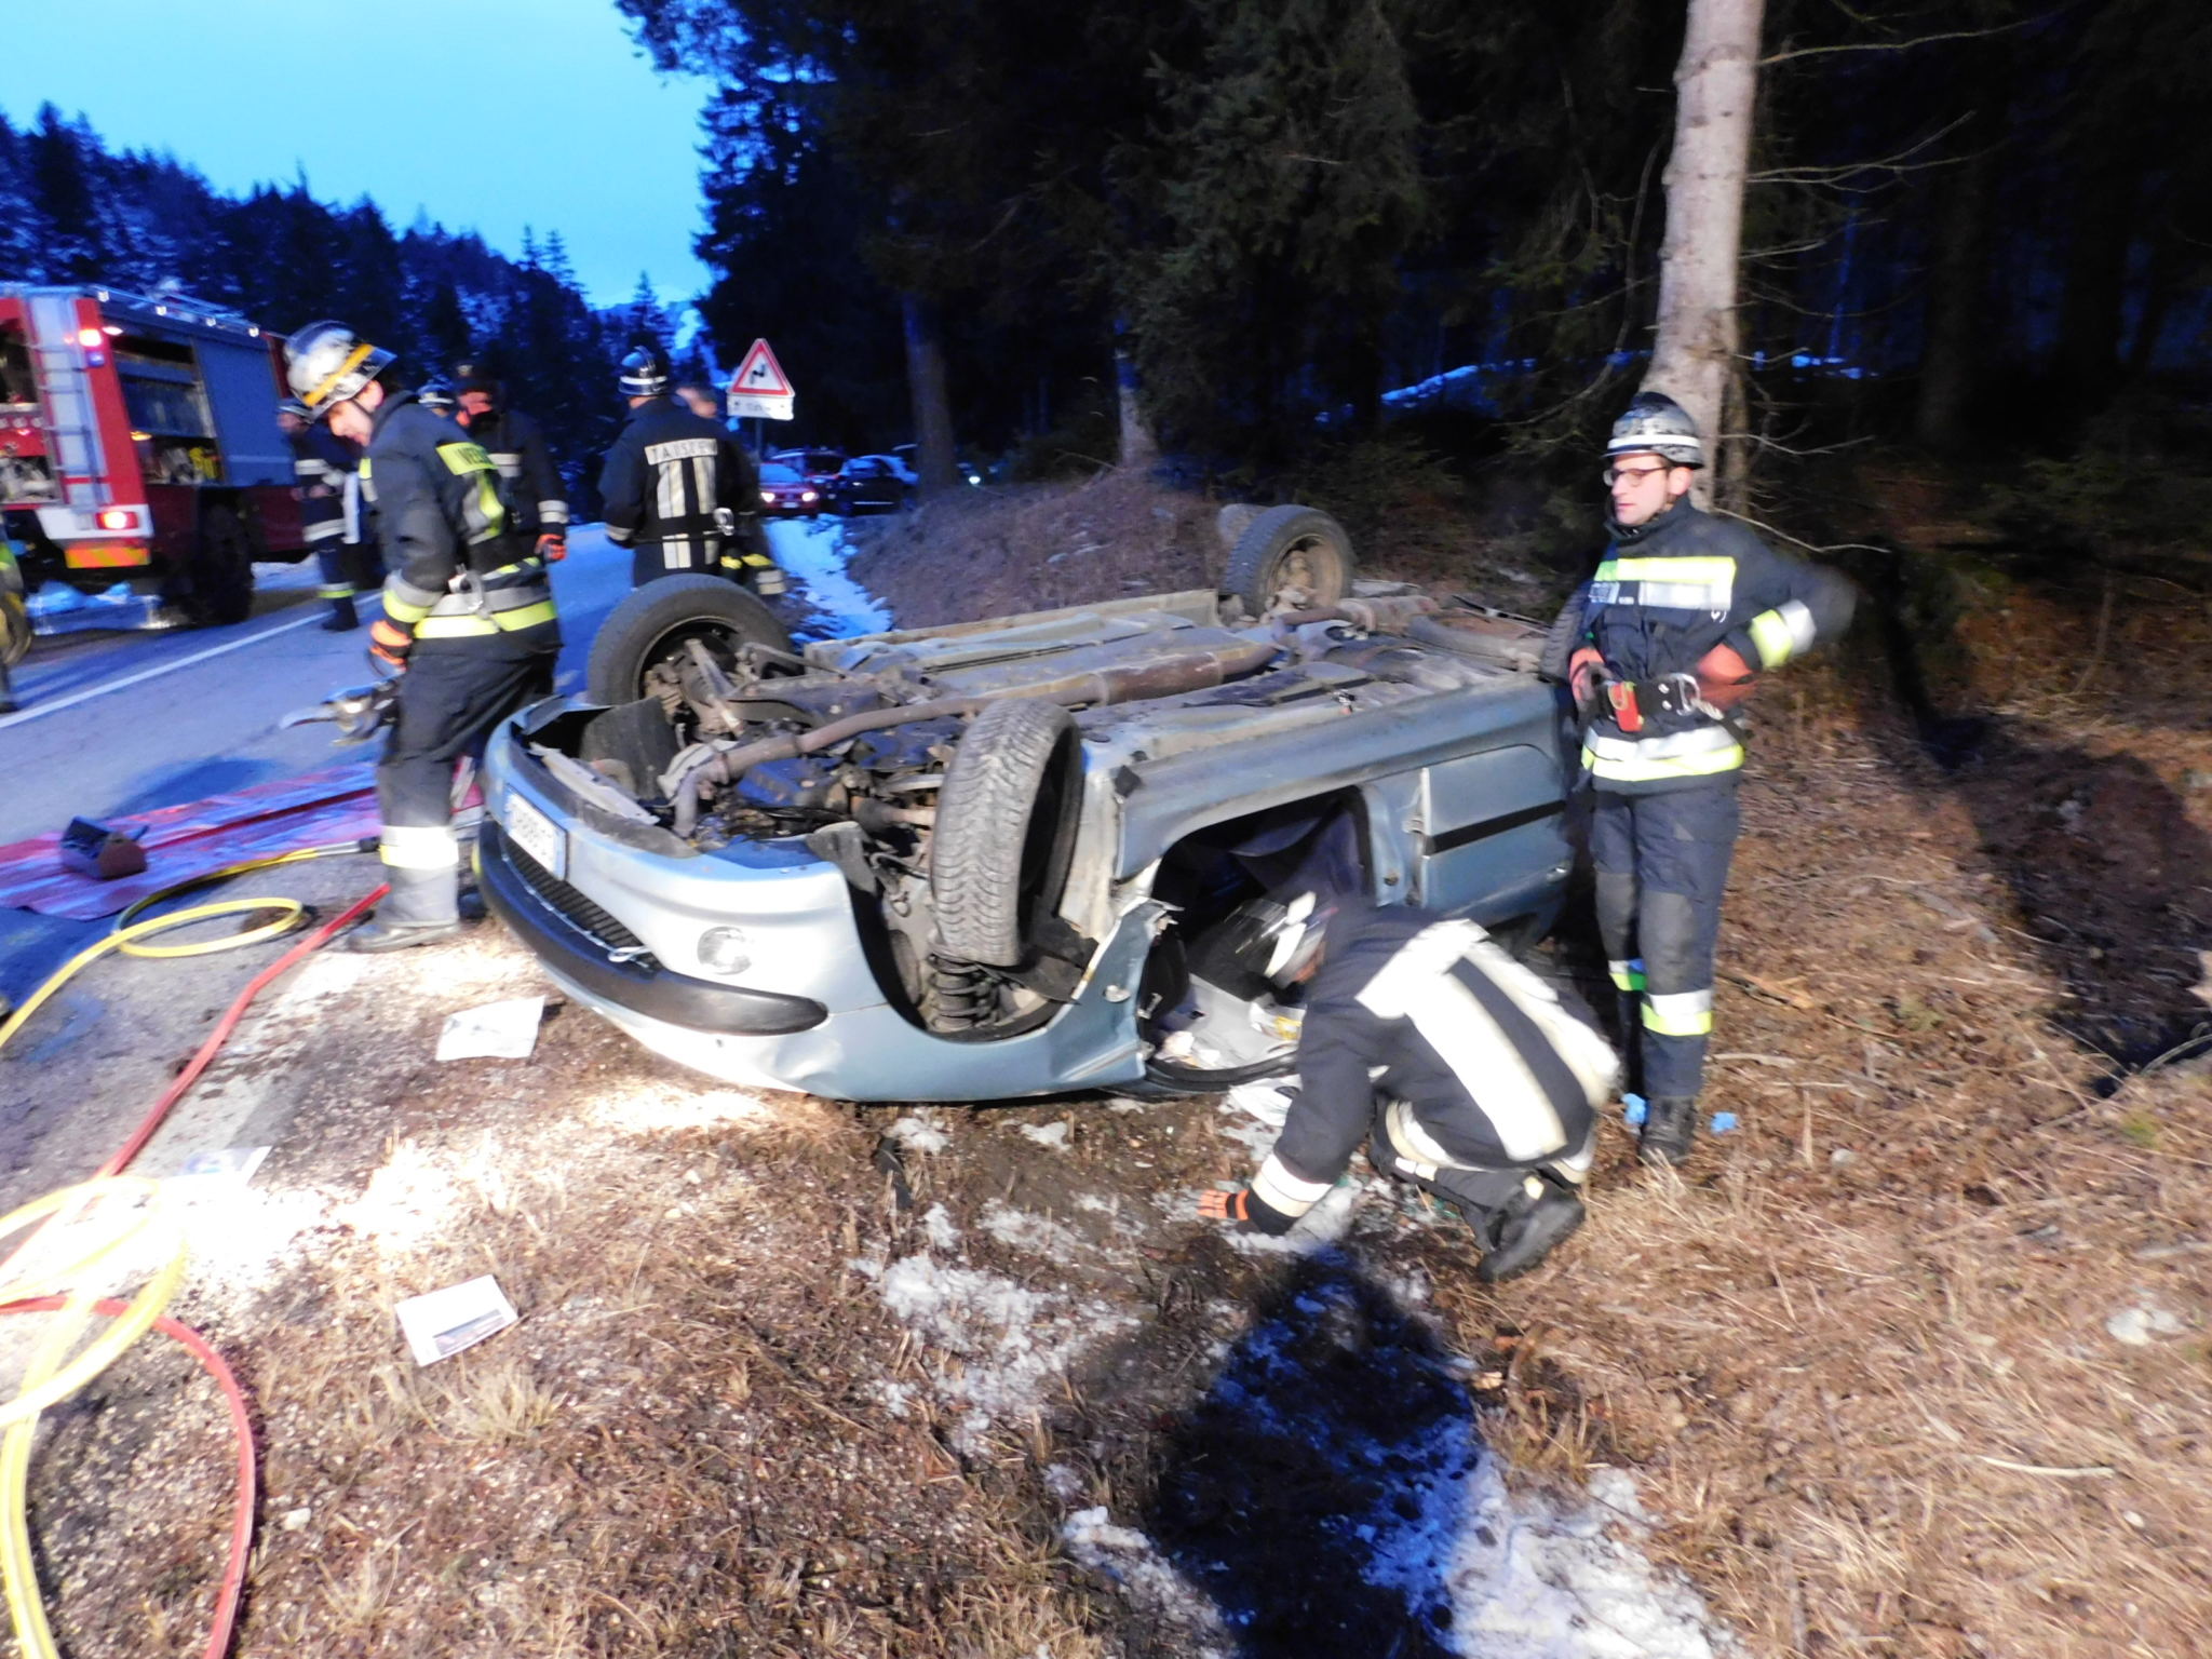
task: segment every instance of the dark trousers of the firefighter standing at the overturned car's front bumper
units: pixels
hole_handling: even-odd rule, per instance
[[[376,763],[380,852],[392,885],[376,907],[380,922],[422,927],[458,918],[453,761],[482,754],[502,719],[553,690],[553,655],[509,639],[425,641],[409,655],[398,721]]]

